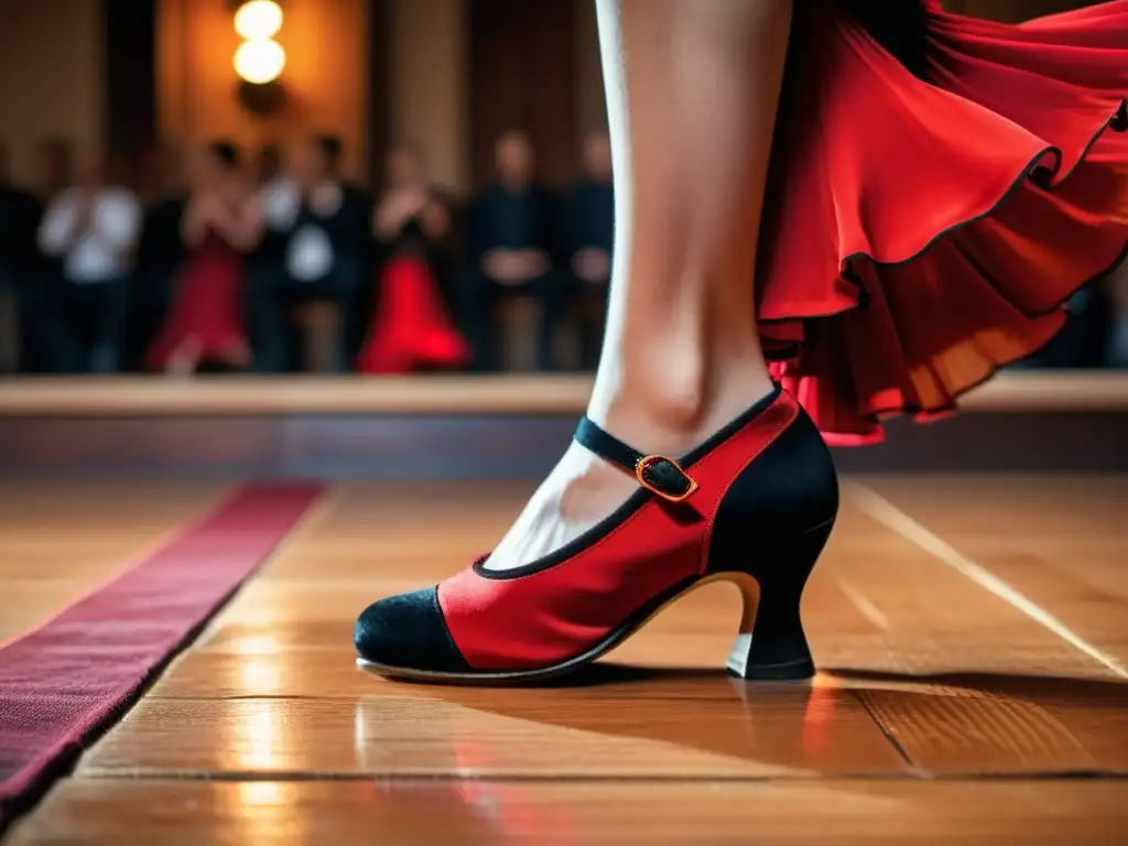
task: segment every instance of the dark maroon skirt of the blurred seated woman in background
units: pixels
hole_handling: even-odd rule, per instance
[[[229,361],[246,349],[243,321],[243,254],[208,231],[184,264],[173,307],[149,350],[149,365],[162,370],[185,344],[199,361]]]

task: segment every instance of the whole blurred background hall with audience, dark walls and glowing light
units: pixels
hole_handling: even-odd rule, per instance
[[[590,370],[603,131],[592,0],[0,0],[0,372]]]

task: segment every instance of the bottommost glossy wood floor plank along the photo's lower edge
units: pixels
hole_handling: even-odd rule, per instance
[[[1123,843],[1125,782],[70,779],[11,846]]]

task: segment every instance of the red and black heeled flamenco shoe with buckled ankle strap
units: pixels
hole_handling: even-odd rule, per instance
[[[643,455],[587,417],[575,440],[638,491],[559,550],[512,570],[486,558],[438,587],[381,599],[356,622],[358,663],[391,678],[530,682],[605,654],[714,581],[743,596],[730,675],[814,673],[800,598],[838,512],[830,453],[776,387],[680,460]]]

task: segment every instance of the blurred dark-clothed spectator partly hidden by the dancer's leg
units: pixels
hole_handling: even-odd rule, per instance
[[[572,281],[569,300],[579,318],[580,365],[594,370],[603,337],[615,241],[611,146],[606,133],[584,139],[583,162],[584,176],[572,188],[565,205],[564,237]]]

